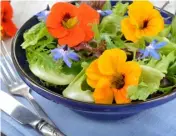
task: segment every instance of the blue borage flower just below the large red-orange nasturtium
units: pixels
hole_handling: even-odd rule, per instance
[[[63,45],[58,48],[51,50],[51,54],[53,59],[57,61],[58,59],[63,59],[65,64],[71,68],[72,61],[79,61],[79,56],[73,50],[71,50],[68,46]]]

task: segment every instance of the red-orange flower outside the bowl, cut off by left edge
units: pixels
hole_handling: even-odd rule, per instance
[[[9,1],[0,2],[1,9],[1,37],[14,36],[17,28],[12,21],[13,9]]]

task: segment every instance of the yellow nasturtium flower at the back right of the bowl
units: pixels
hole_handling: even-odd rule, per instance
[[[136,42],[142,36],[155,36],[164,28],[164,19],[149,1],[134,1],[128,7],[128,15],[121,22],[127,40]]]

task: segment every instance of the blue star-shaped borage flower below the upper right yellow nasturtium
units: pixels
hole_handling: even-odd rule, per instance
[[[167,44],[167,42],[159,42],[158,43],[157,40],[153,40],[144,50],[139,50],[139,52],[142,54],[141,59],[151,56],[151,57],[159,60],[160,55],[157,52],[157,50],[162,48],[166,44]]]

